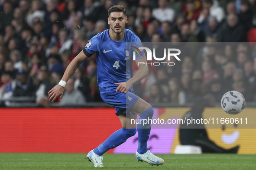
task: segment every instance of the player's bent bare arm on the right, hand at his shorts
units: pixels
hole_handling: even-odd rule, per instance
[[[123,94],[126,94],[126,92],[132,87],[133,83],[139,82],[140,80],[144,79],[149,74],[149,67],[146,66],[146,64],[140,64],[139,63],[147,63],[146,56],[135,60],[136,65],[138,66],[139,70],[136,72],[136,74],[129,79],[127,82],[120,82],[115,83],[115,85],[119,85],[117,87],[117,91],[122,92]]]

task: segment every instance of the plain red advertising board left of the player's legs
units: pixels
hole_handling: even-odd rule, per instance
[[[120,128],[114,108],[1,108],[0,152],[86,153]]]

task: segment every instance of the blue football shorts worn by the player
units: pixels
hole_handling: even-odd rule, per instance
[[[133,88],[130,88],[126,94],[123,94],[120,91],[116,93],[117,87],[103,89],[100,91],[100,96],[104,102],[115,107],[116,114],[126,113],[126,111],[129,111],[136,101],[138,101],[139,96],[134,94]]]

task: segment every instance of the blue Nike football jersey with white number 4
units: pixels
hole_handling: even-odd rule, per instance
[[[133,51],[129,46],[134,49],[142,47],[140,39],[129,29],[125,29],[124,38],[120,42],[113,41],[108,31],[109,29],[95,35],[84,47],[84,54],[87,57],[96,54],[97,82],[100,91],[116,87],[114,83],[126,82],[133,76]],[[134,44],[127,46],[126,42],[134,42]],[[136,60],[144,56],[141,50],[140,53],[136,53]]]

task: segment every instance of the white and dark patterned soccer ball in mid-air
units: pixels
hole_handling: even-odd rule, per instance
[[[229,114],[238,114],[245,107],[245,99],[238,91],[228,91],[220,101],[222,109]]]

